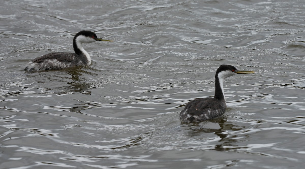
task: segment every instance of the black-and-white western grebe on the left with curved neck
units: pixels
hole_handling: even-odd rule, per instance
[[[25,71],[38,70],[57,70],[73,66],[86,66],[91,64],[91,57],[83,48],[83,43],[95,41],[109,41],[97,38],[96,34],[91,31],[80,31],[73,39],[73,48],[75,53],[56,52],[48,53],[38,57],[25,67]]]

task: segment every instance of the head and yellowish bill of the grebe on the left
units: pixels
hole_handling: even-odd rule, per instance
[[[110,40],[97,38],[96,34],[91,31],[80,31],[75,35],[73,40],[75,42],[80,42],[80,43],[91,43],[95,41],[110,41]]]

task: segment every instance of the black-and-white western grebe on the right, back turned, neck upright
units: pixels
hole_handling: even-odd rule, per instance
[[[194,99],[186,103],[185,108],[180,112],[180,120],[183,123],[199,123],[204,120],[219,117],[226,110],[224,98],[224,79],[235,74],[248,74],[254,71],[240,71],[234,66],[221,65],[215,74],[215,95],[214,98]]]

